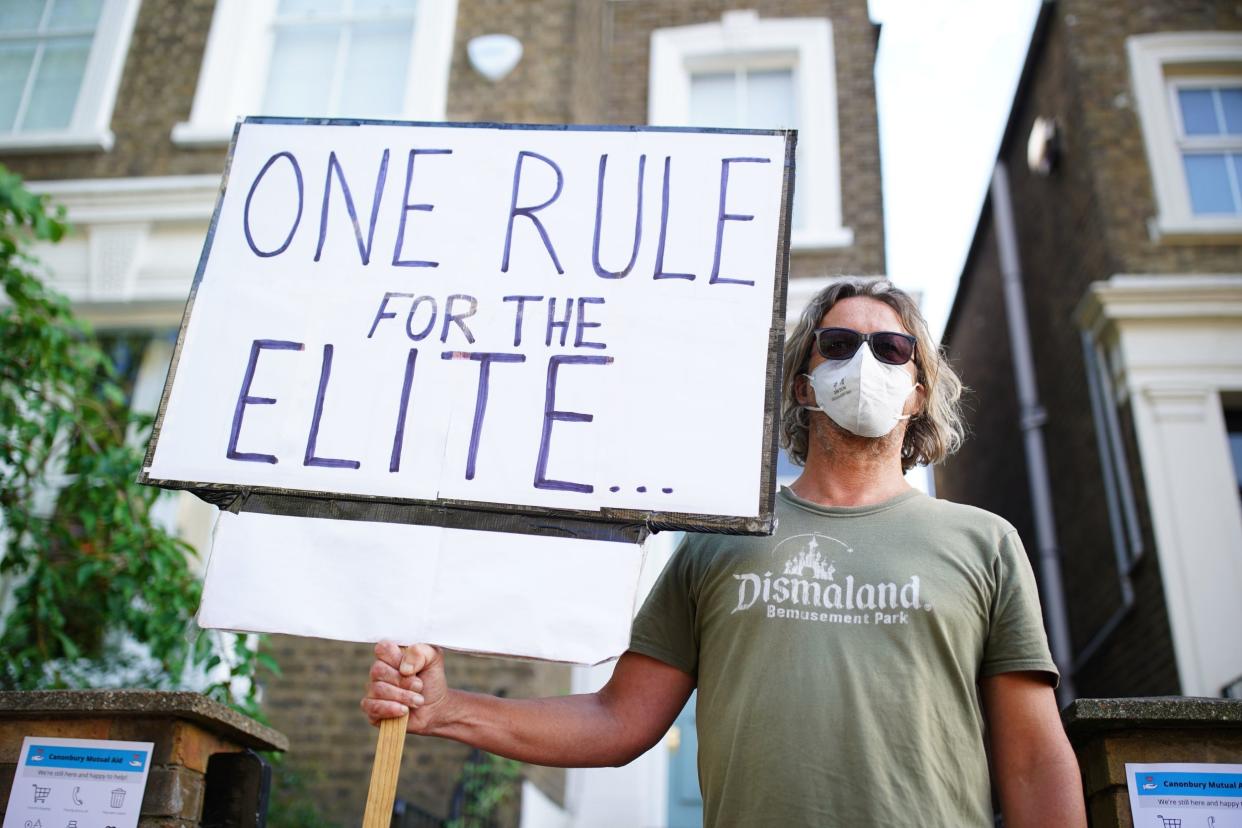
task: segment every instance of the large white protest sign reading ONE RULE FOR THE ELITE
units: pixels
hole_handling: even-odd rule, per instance
[[[247,119],[142,480],[271,515],[770,531],[792,153]]]

